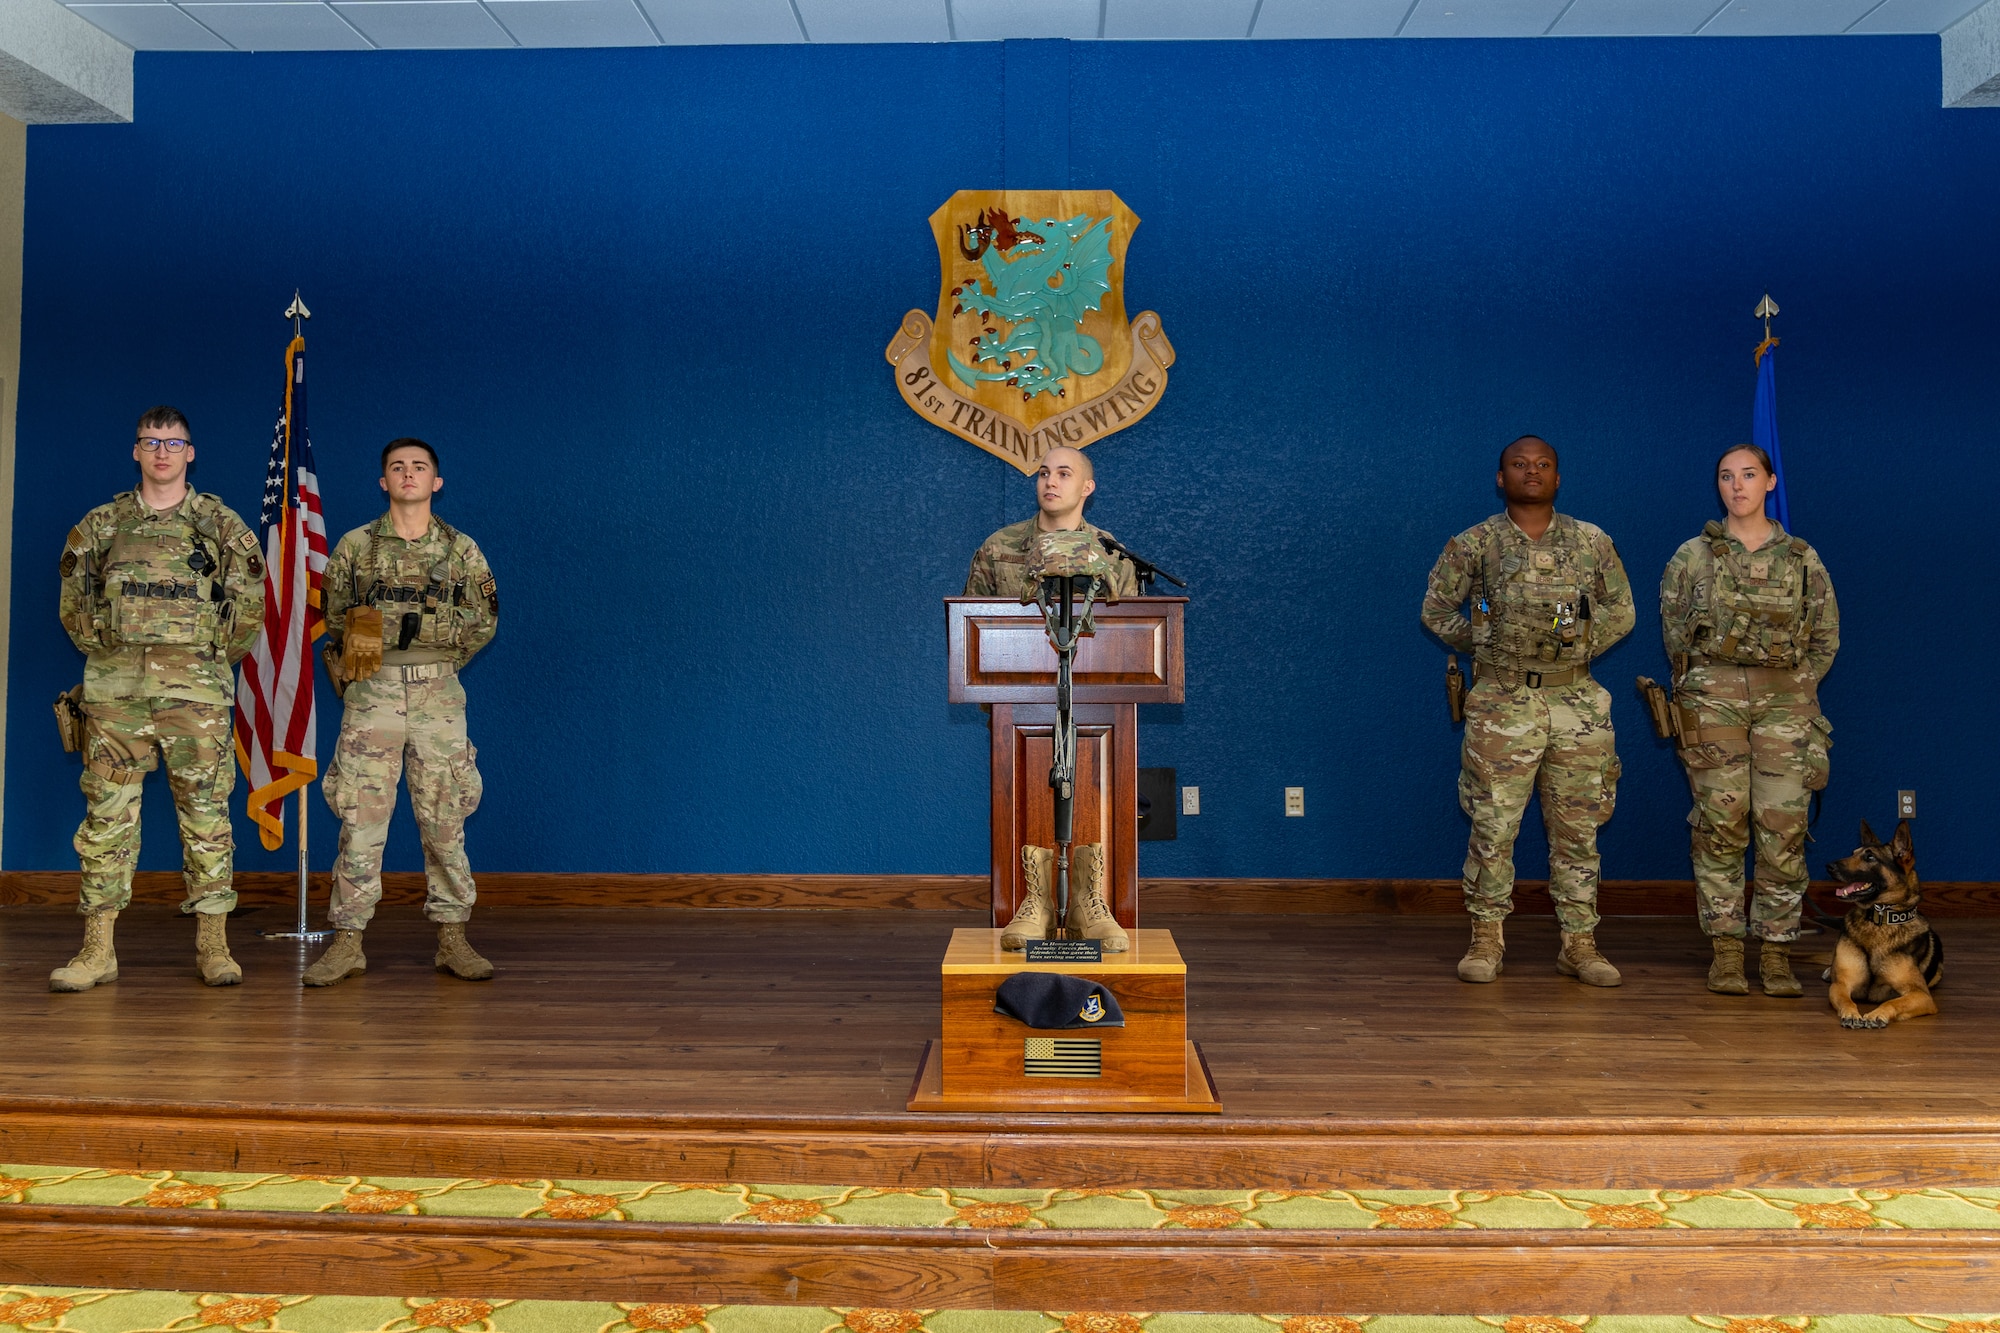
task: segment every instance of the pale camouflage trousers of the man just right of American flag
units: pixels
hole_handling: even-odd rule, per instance
[[[402,681],[384,666],[346,693],[340,743],[326,771],[326,805],[340,817],[334,905],[340,931],[360,931],[382,901],[382,847],[396,813],[396,779],[410,773],[410,809],[424,841],[424,915],[466,921],[478,897],[466,861],[466,815],[480,807],[478,751],[466,741],[458,677]]]

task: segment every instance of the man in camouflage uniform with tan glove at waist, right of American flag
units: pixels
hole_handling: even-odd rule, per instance
[[[340,538],[326,560],[326,630],[332,660],[348,662],[334,763],[322,783],[340,817],[334,861],[334,943],[306,969],[304,985],[326,987],[368,971],[362,931],[382,901],[382,847],[396,813],[396,781],[408,775],[410,809],[424,843],[424,915],[438,923],[436,967],[466,981],[492,977],[492,963],[466,941],[472,863],[466,817],[480,807],[478,751],[466,739],[466,691],[458,671],[492,642],[500,592],[478,544],[430,512],[442,486],[436,452],[422,440],[382,450],[390,512]],[[348,624],[352,608],[380,612],[380,656],[366,654]]]

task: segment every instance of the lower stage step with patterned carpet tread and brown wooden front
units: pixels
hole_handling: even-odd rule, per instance
[[[946,1191],[0,1167],[0,1281],[1446,1315],[1888,1313],[2000,1289],[1984,1191]]]

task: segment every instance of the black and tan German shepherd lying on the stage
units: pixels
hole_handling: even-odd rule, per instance
[[[1826,877],[1840,885],[1834,897],[1854,905],[1840,923],[1828,969],[1834,983],[1828,999],[1840,1027],[1888,1027],[1938,1013],[1930,989],[1944,979],[1944,941],[1920,911],[1910,821],[1896,825],[1896,837],[1884,845],[1864,819],[1862,845],[1830,863]],[[1862,1013],[1856,997],[1874,1009]]]

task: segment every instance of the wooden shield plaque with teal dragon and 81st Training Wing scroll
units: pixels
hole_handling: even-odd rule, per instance
[[[1160,316],[1124,308],[1138,214],[1110,190],[960,190],[930,214],[938,314],[886,356],[918,416],[1032,474],[1124,430],[1166,392]]]

